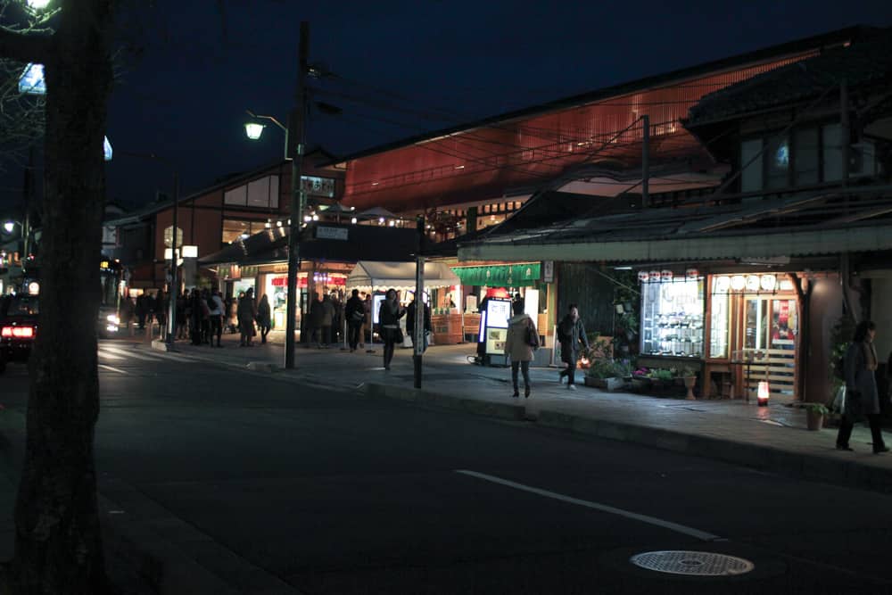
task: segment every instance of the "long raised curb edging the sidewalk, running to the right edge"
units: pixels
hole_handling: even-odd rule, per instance
[[[892,492],[892,470],[827,459],[820,455],[789,452],[770,446],[710,436],[683,434],[653,426],[592,419],[549,409],[538,409],[532,403],[532,407],[526,408],[524,405],[475,401],[415,388],[376,383],[361,384],[359,391],[367,396],[387,397],[479,416],[515,421],[525,419],[541,427],[618,442],[631,442],[799,479],[863,488],[874,492]]]

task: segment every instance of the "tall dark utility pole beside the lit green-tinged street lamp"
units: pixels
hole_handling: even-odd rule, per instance
[[[307,70],[310,59],[310,23],[301,21],[298,46],[297,92],[288,118],[288,153],[291,161],[291,213],[288,225],[288,294],[285,302],[285,368],[294,368],[294,317],[297,314],[297,271],[301,267],[301,226],[306,197],[301,185],[307,117]],[[302,317],[301,317],[302,318]]]

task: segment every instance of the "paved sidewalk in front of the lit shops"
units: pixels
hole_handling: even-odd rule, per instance
[[[531,368],[533,395],[511,397],[510,370],[468,363],[475,345],[434,345],[424,356],[422,389],[413,388],[412,350],[397,349],[385,371],[381,345],[375,353],[340,347],[295,349],[295,368],[285,370],[281,333],[270,342],[239,347],[237,335],[224,335],[224,348],[179,344],[192,358],[253,370],[306,384],[359,390],[369,396],[413,401],[425,407],[532,421],[612,440],[719,459],[783,475],[892,492],[892,453],[874,455],[866,426],[856,426],[855,452],[835,449],[836,428],[805,429],[805,411],[782,403],[685,401],[634,393],[607,393],[582,385],[558,384],[555,368]],[[146,345],[147,347],[148,345]],[[370,347],[369,345],[366,346]],[[171,354],[173,355],[173,354]],[[892,436],[887,443],[892,444]]]

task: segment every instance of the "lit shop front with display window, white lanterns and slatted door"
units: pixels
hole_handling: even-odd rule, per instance
[[[777,272],[640,270],[638,365],[689,368],[708,398],[797,398],[800,302]]]

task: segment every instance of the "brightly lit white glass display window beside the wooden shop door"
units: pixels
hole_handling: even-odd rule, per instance
[[[703,357],[703,278],[641,284],[641,353]]]

